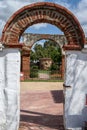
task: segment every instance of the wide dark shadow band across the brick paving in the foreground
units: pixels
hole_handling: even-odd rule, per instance
[[[21,122],[33,123],[56,130],[64,130],[63,115],[50,115],[27,110],[21,110],[21,112]]]

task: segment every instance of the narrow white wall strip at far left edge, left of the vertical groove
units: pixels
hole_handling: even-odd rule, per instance
[[[5,51],[0,51],[0,130],[6,128],[5,102]]]

